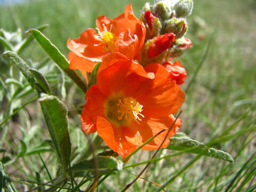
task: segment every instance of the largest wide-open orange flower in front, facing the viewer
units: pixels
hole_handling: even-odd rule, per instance
[[[157,63],[143,68],[132,60],[109,55],[100,67],[97,84],[85,95],[82,130],[85,134],[97,131],[108,147],[125,158],[150,137],[171,127],[175,120],[172,114],[179,110],[185,93]],[[162,148],[169,145],[181,123],[178,119]],[[166,133],[142,149],[157,149]]]

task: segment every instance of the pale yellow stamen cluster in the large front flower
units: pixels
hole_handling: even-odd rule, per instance
[[[131,97],[118,99],[116,105],[118,107],[117,113],[119,114],[117,116],[118,121],[122,119],[126,119],[128,121],[131,119],[139,119],[141,121],[139,115],[144,117],[144,115],[141,114],[143,106]]]

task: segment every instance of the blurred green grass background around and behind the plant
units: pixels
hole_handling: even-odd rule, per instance
[[[22,31],[49,23],[50,27],[44,34],[67,55],[66,42],[68,38],[76,38],[86,28],[95,27],[98,15],[116,17],[123,12],[126,4],[132,4],[135,14],[139,17],[140,10],[146,1],[142,0],[44,0],[27,1],[22,4],[0,6],[0,28]],[[153,2],[153,1],[150,1]],[[199,18],[199,19],[198,19]],[[198,24],[200,20],[201,25]],[[225,150],[234,159],[234,164],[222,162],[218,159],[202,157],[184,172],[179,173],[184,166],[193,161],[195,155],[175,156],[165,161],[150,165],[143,177],[163,185],[170,178],[174,178],[167,191],[224,191],[231,179],[242,168],[244,163],[256,151],[256,2],[253,0],[195,0],[194,11],[188,17],[187,36],[193,42],[193,47],[182,55],[183,66],[187,69],[188,78],[182,89],[187,91],[181,118],[182,132],[190,138],[201,142],[209,142],[221,135],[225,130],[229,133],[221,135],[213,147]],[[204,36],[199,39],[198,36]],[[26,34],[24,34],[26,36]],[[209,54],[198,68],[203,59],[208,42]],[[35,63],[46,57],[44,51],[37,43],[31,45],[21,57],[36,68]],[[33,62],[30,62],[30,61]],[[33,64],[34,63],[34,64]],[[55,94],[61,98],[69,108],[84,102],[84,95],[66,80],[67,97],[63,97],[63,90],[59,90],[58,79],[61,74],[50,63],[45,66],[47,78],[53,79],[51,87]],[[193,79],[193,75],[197,73]],[[3,79],[9,73],[1,72]],[[55,79],[55,80],[54,80]],[[192,81],[191,81],[192,80]],[[26,98],[31,98],[32,94]],[[17,101],[26,102],[26,99]],[[4,110],[4,108],[1,108]],[[1,112],[3,113],[3,111]],[[7,130],[0,146],[5,148],[10,157],[15,157],[19,149],[19,139],[28,137],[31,128],[35,131],[28,143],[38,145],[49,135],[43,123],[41,110],[36,102],[28,105],[19,113],[18,120],[12,119],[3,127]],[[238,121],[241,120],[241,121]],[[70,116],[71,142],[82,151],[87,140],[79,130],[79,116]],[[35,128],[36,126],[36,128]],[[0,130],[3,133],[3,130]],[[2,134],[3,135],[3,134]],[[161,155],[172,153],[162,150]],[[143,152],[131,158],[129,164],[149,159],[151,153]],[[0,154],[1,158],[1,154]],[[57,164],[54,155],[43,155],[51,174],[56,174]],[[38,156],[27,156],[19,159],[18,163],[5,167],[9,177],[17,177],[35,181],[35,172],[39,172],[42,181],[49,180]],[[99,191],[119,191],[135,176],[131,172],[139,173],[143,166],[130,168],[111,175],[99,187]],[[249,186],[256,185],[255,157],[250,166],[245,166],[247,172],[240,175],[233,191],[250,191]],[[249,173],[253,177],[249,177]],[[178,174],[178,175],[177,175]],[[243,186],[243,181],[250,178]],[[254,179],[254,180],[253,180]],[[18,191],[33,186],[26,182],[14,182]],[[242,186],[242,187],[241,187]],[[240,188],[239,188],[240,187]],[[131,191],[157,191],[158,187],[145,180],[139,180]]]

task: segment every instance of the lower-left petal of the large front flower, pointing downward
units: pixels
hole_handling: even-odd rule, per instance
[[[97,131],[106,145],[123,158],[135,150],[135,146],[124,138],[121,127],[111,125],[106,118],[97,118]]]

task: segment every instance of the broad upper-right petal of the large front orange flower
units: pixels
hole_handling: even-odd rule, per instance
[[[152,63],[145,70],[154,73],[155,78],[141,82],[138,91],[132,95],[143,106],[143,115],[159,118],[177,113],[185,100],[185,93],[175,81],[168,79],[169,73],[163,66]]]

